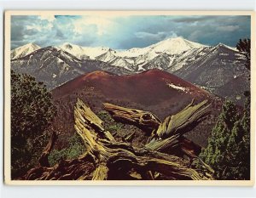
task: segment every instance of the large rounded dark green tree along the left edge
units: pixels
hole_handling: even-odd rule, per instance
[[[33,167],[55,116],[51,93],[43,82],[11,71],[11,173],[16,178]]]

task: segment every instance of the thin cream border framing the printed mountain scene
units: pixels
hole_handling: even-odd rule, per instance
[[[218,186],[252,186],[254,184],[255,169],[254,169],[254,157],[255,151],[251,149],[251,180],[213,180],[213,181],[18,181],[11,180],[10,178],[10,18],[13,15],[44,15],[44,14],[55,14],[55,15],[102,15],[102,16],[121,16],[121,15],[250,15],[251,16],[251,39],[252,39],[252,101],[254,99],[254,85],[255,85],[255,74],[256,70],[254,64],[255,54],[255,13],[251,11],[6,11],[5,12],[5,64],[4,64],[4,82],[5,82],[5,93],[4,93],[4,181],[6,184],[15,185],[218,185]],[[254,103],[252,109],[255,108]],[[253,121],[254,114],[252,111],[251,115]],[[254,127],[251,129],[251,145],[255,144],[255,133]]]

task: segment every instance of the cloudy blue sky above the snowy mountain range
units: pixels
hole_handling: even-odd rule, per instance
[[[115,49],[142,48],[168,37],[236,46],[250,37],[249,16],[12,16],[11,48],[28,42],[40,47],[70,42]]]

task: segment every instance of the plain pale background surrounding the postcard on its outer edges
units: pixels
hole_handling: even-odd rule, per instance
[[[3,10],[5,9],[168,9],[168,10],[256,10],[255,0],[73,0],[67,1],[15,1],[0,0],[0,10],[2,14],[0,26],[3,32]],[[3,54],[3,40],[0,40]],[[3,63],[3,56],[2,63]],[[3,72],[0,72],[3,88]],[[3,104],[3,94],[0,94],[0,101]],[[3,128],[3,105],[0,105],[0,125]],[[254,109],[256,111],[256,109]],[[254,124],[255,125],[255,124]],[[3,132],[3,130],[2,130]],[[3,170],[3,136],[0,145],[0,169]],[[255,145],[254,145],[255,147]],[[3,181],[3,171],[0,171],[0,178]],[[6,186],[0,184],[1,197],[38,197],[45,196],[73,197],[84,195],[87,197],[256,197],[256,186],[253,188],[234,188],[234,187],[107,187],[107,186]]]

